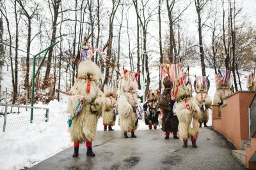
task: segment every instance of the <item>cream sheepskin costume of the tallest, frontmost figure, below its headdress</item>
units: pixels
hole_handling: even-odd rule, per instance
[[[94,156],[92,141],[96,139],[97,121],[102,114],[103,93],[99,89],[101,72],[92,61],[80,62],[77,78],[70,89],[72,96],[68,97],[68,113],[74,117],[69,129],[70,136],[75,146],[74,157],[78,156],[79,143],[86,143],[87,155]],[[83,96],[83,109],[75,116],[79,97]]]

